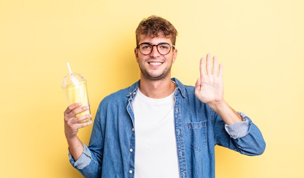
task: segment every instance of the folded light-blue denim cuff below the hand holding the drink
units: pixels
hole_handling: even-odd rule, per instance
[[[69,152],[68,149],[68,158],[69,158],[69,162],[72,164],[73,167],[75,167],[76,169],[83,169],[85,166],[89,165],[91,160],[92,160],[92,156],[91,156],[91,152],[88,149],[88,147],[83,143],[84,145],[84,151],[81,154],[81,156],[78,158],[77,161],[75,161],[71,155],[71,153]]]

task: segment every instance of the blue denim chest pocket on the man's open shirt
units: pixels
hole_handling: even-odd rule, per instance
[[[188,123],[191,148],[197,151],[202,151],[207,145],[207,129],[206,121]]]

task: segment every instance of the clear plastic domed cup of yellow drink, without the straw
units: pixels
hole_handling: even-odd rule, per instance
[[[86,80],[82,75],[78,73],[70,73],[66,75],[63,79],[61,87],[67,97],[69,105],[74,103],[82,103],[81,107],[85,107],[85,106],[90,107],[89,98],[86,89]],[[90,109],[76,114],[75,117],[82,116],[85,114],[91,114]],[[92,118],[89,118],[80,121],[79,123],[84,123],[91,120]]]

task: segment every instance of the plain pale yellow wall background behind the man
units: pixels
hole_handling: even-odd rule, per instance
[[[216,177],[303,178],[303,7],[300,0],[0,0],[0,177],[82,177],[64,135],[66,62],[87,79],[94,118],[103,97],[138,80],[135,28],[157,15],[179,32],[172,76],[194,85],[200,58],[216,54],[226,101],[267,143],[257,157],[217,146]],[[86,144],[91,129],[79,131]]]

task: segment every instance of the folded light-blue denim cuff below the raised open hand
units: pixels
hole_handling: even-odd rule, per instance
[[[227,125],[225,124],[225,130],[233,139],[244,137],[248,134],[248,128],[250,125],[250,119],[242,112],[237,112],[241,117],[242,121]]]

